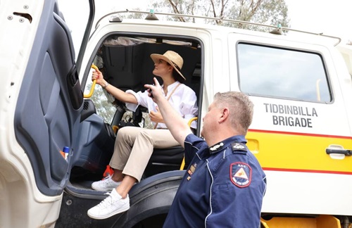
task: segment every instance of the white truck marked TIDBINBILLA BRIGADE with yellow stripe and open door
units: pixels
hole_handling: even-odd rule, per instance
[[[198,99],[194,134],[216,92],[253,101],[246,139],[268,179],[262,227],[351,226],[352,52],[338,37],[180,23],[166,17],[184,15],[153,11],[93,24],[91,0],[77,53],[56,1],[1,4],[0,25],[11,35],[0,42],[8,76],[0,85],[0,227],[162,227],[188,166],[181,146],[153,151],[130,210],[106,220],[87,210],[106,198],[91,184],[107,175],[118,130],[152,127],[148,110],[131,112],[92,82],[92,65],[109,84],[143,91],[153,83],[150,54],[167,50],[184,59],[184,83]],[[134,13],[143,19],[123,17]]]

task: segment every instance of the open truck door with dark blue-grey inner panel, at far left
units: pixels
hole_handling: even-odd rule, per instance
[[[55,0],[0,5],[0,227],[51,227],[84,101],[73,41]]]

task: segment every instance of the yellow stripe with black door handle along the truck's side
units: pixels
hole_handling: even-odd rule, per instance
[[[337,160],[326,153],[332,144],[351,149],[351,137],[249,129],[246,139],[264,170],[352,175],[351,156]]]

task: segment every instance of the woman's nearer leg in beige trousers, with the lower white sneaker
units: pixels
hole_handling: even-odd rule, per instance
[[[129,129],[126,130],[126,133],[128,130]],[[119,141],[122,138],[121,135],[122,134],[120,134],[118,139]],[[127,144],[129,144],[131,141],[130,138],[128,136],[124,138],[127,138],[127,140],[124,141],[127,141]],[[124,148],[123,145],[120,147],[120,142],[116,142],[116,144],[116,147],[118,149],[122,148],[122,151],[130,147],[125,146]],[[132,188],[133,184],[135,182],[139,182],[142,178],[142,174],[149,162],[151,153],[153,153],[153,148],[168,148],[170,146],[177,146],[178,143],[168,130],[142,129],[139,131],[139,134],[137,134],[137,137],[135,137],[134,144],[132,145],[132,151],[130,151],[129,157],[126,156],[127,149],[122,153],[122,155],[125,155],[122,156],[123,158],[127,157],[127,163],[125,160],[121,160],[119,162],[115,160],[115,157],[111,163],[117,163],[117,165],[121,165],[118,167],[122,167],[125,163],[125,167],[123,168],[123,174],[125,177],[122,179],[120,185],[111,191],[111,194],[108,196],[108,198],[101,201],[99,205],[96,205],[95,207],[88,210],[89,217],[103,219],[128,210],[130,208],[130,198],[128,196],[128,192]]]

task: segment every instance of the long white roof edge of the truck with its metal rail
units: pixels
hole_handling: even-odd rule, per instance
[[[134,18],[125,18],[126,16],[131,17],[131,15],[146,15],[144,19],[134,19]],[[191,22],[181,22],[170,20],[170,18],[192,18],[196,23]],[[243,29],[238,27],[227,27],[223,25],[214,25],[211,24],[216,22],[221,23],[231,23],[234,26],[245,25],[251,26],[251,30]],[[272,37],[277,36],[278,39],[288,39],[296,42],[305,42],[310,44],[325,44],[337,46],[341,42],[340,37],[334,37],[322,32],[308,32],[304,30],[296,30],[290,27],[282,27],[281,25],[266,25],[260,23],[251,23],[243,20],[233,20],[227,18],[214,18],[206,17],[200,15],[184,15],[177,13],[160,13],[154,11],[116,11],[113,13],[108,13],[103,15],[96,23],[96,29],[98,27],[103,27],[111,23],[123,23],[123,24],[134,24],[141,26],[148,25],[165,25],[168,27],[184,27],[197,30],[215,30],[216,32],[234,32],[241,34],[250,34],[260,37]],[[268,32],[266,32],[268,31]]]

